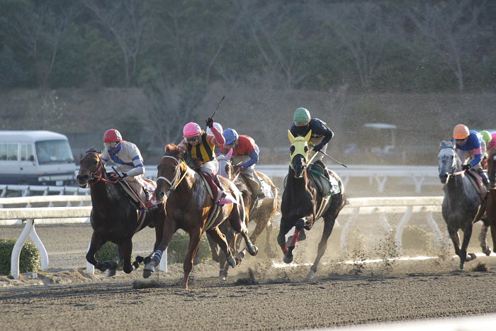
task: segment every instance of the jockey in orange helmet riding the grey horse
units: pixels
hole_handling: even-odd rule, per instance
[[[458,124],[453,128],[451,141],[453,140],[456,142],[456,154],[460,157],[463,170],[475,169],[484,185],[489,187],[487,176],[480,167],[480,160],[485,155],[485,141],[482,135],[475,130],[468,130],[466,125]]]

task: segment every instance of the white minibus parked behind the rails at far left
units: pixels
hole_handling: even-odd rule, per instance
[[[0,131],[0,184],[72,184],[74,170],[74,157],[65,135]]]

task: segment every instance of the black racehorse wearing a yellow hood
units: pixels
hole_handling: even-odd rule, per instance
[[[305,137],[293,137],[288,130],[288,138],[291,142],[290,166],[283,191],[281,226],[277,237],[277,242],[284,253],[283,261],[291,263],[297,240],[304,240],[306,237],[303,229],[310,230],[316,220],[320,217],[324,218],[322,238],[319,242],[317,257],[310,267],[308,279],[315,276],[317,266],[327,248],[327,240],[331,235],[334,222],[346,203],[344,187],[336,173],[327,171],[329,178],[334,180],[337,186],[333,195],[331,191],[322,194],[317,187],[317,181],[312,178],[315,170],[310,168],[311,159],[309,159],[308,148],[311,134],[310,131]],[[295,227],[295,232],[286,242],[286,233],[293,227]]]

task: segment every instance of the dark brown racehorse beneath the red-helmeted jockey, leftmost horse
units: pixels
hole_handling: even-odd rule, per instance
[[[101,271],[108,271],[108,276],[115,274],[118,264],[123,259],[123,270],[129,274],[139,267],[137,262],[142,258],[137,257],[133,266],[131,265],[131,252],[133,250],[133,235],[150,225],[155,228],[155,244],[157,248],[162,240],[164,230],[165,212],[162,204],[157,208],[144,208],[137,210],[137,206],[120,184],[119,179],[112,179],[103,167],[101,154],[93,148],[86,152],[79,162],[79,174],[77,180],[79,186],[90,187],[91,192],[91,243],[86,254],[86,260]],[[95,258],[96,252],[103,244],[111,241],[118,246],[118,258],[113,261],[98,262]]]

